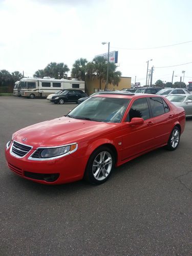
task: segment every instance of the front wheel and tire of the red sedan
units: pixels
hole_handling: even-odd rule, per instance
[[[98,147],[90,156],[84,179],[91,184],[99,185],[107,181],[114,169],[113,151],[106,146]]]

